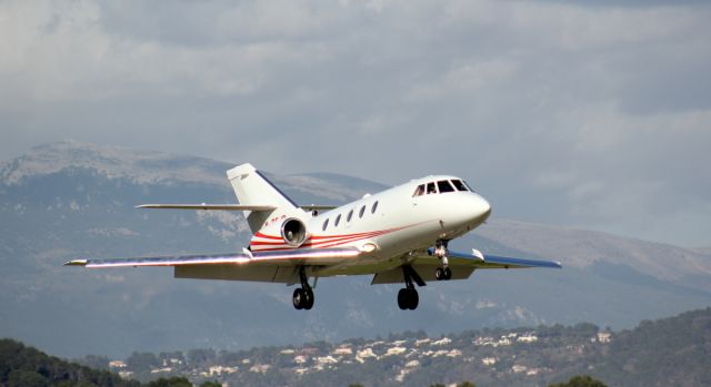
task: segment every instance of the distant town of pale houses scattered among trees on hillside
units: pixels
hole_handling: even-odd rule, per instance
[[[348,376],[365,365],[379,368],[387,383],[412,383],[421,379],[418,374],[424,368],[443,363],[468,367],[478,375],[499,378],[508,375],[535,383],[553,374],[557,365],[551,359],[554,356],[524,354],[554,348],[554,353],[564,355],[570,361],[585,353],[602,350],[612,339],[611,332],[599,330],[591,324],[572,328],[554,326],[533,330],[469,332],[437,338],[420,332],[388,339],[356,339],[339,344],[318,342],[300,347],[254,348],[238,353],[212,349],[193,349],[187,354],[136,353],[126,360],[110,360],[108,367],[126,379],[146,381],[186,376],[196,384],[214,380],[227,387],[254,379],[262,379],[268,385],[270,380],[298,381],[326,373]],[[562,348],[561,344],[564,344]]]

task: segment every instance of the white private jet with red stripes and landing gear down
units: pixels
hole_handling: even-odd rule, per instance
[[[143,204],[138,208],[242,211],[252,231],[239,253],[73,259],[88,268],[172,266],[176,278],[299,284],[296,309],[311,309],[321,277],[372,275],[404,284],[400,309],[418,307],[415,285],[465,279],[480,268],[561,268],[559,262],[450,251],[451,240],[484,223],[491,205],[462,179],[427,176],[341,205],[297,205],[249,163],[227,171],[239,204]],[[313,285],[311,285],[313,278]]]

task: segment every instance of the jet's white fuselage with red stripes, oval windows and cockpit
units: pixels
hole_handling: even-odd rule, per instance
[[[428,185],[434,186],[429,194]],[[460,179],[437,175],[365,195],[316,216],[300,212],[274,212],[252,237],[250,249],[357,247],[367,253],[359,257],[360,264],[363,259],[375,264],[425,249],[438,240],[459,237],[483,223],[491,206]],[[300,246],[284,243],[280,227],[289,217],[299,217],[307,225],[307,238]]]

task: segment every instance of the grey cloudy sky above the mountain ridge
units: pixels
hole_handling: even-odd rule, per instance
[[[77,140],[711,246],[704,1],[0,1],[0,160]]]

